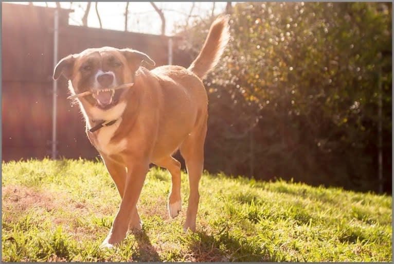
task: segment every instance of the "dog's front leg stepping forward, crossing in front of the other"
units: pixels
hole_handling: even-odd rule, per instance
[[[102,247],[112,247],[114,244],[119,244],[126,237],[133,210],[136,208],[149,169],[149,163],[134,160],[133,164],[128,166],[127,169],[123,199],[110,233],[101,244]]]

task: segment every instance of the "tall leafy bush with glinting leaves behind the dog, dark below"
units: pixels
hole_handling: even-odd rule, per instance
[[[195,56],[210,21],[190,29]],[[391,192],[391,3],[241,3],[205,81],[211,172]],[[256,172],[259,173],[256,173]]]

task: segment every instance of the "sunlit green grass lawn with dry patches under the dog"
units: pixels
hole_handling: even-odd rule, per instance
[[[3,261],[392,261],[391,196],[204,173],[197,232],[167,212],[170,176],[152,168],[138,202],[144,226],[99,245],[120,203],[101,162],[3,163]]]

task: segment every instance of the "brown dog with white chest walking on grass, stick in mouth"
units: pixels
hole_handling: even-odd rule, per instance
[[[91,48],[63,58],[53,78],[62,74],[78,97],[86,121],[86,134],[99,151],[122,201],[102,247],[120,243],[128,230],[140,230],[137,200],[149,164],[168,169],[172,189],[168,199],[171,217],[181,210],[181,165],[172,157],[180,149],[190,183],[184,230],[195,231],[199,182],[204,163],[207,131],[207,94],[202,78],[218,63],[229,38],[228,19],[216,19],[199,56],[188,69],[160,66],[142,52],[112,47]],[[129,89],[118,89],[134,83]]]

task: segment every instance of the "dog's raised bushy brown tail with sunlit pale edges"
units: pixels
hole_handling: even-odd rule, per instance
[[[228,15],[221,15],[213,21],[199,56],[197,56],[188,68],[189,71],[201,79],[218,64],[223,54],[224,48],[230,38],[228,19]]]

